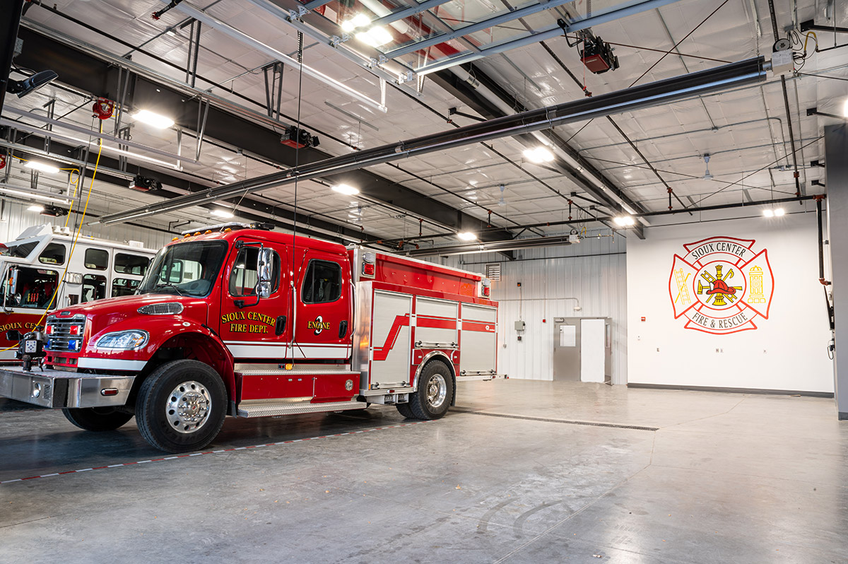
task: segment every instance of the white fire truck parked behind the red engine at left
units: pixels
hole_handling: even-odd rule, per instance
[[[12,349],[18,344],[9,340],[7,333],[23,334],[32,331],[39,321],[43,324],[48,305],[53,310],[135,293],[156,254],[142,243],[86,236],[77,238],[71,254],[73,243],[69,227],[42,225],[0,244],[0,349],[5,349],[0,360],[14,359]],[[59,285],[66,268],[64,283]],[[57,286],[59,292],[54,298]]]

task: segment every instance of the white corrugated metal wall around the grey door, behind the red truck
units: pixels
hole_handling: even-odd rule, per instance
[[[499,262],[493,282],[499,301],[498,371],[510,378],[553,379],[554,317],[611,317],[612,383],[627,383],[627,260],[624,237],[587,237],[553,248],[516,251],[518,260],[500,254],[466,254],[438,262],[483,272]],[[430,259],[437,261],[436,259]],[[517,287],[522,282],[522,287]],[[577,298],[583,308],[574,311]],[[527,323],[518,342],[514,321]],[[547,320],[547,322],[543,322]]]

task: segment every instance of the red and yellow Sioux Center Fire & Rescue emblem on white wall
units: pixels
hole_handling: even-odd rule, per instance
[[[756,329],[756,318],[768,319],[774,294],[767,250],[753,240],[711,237],[683,245],[674,255],[668,293],[674,318],[683,327],[724,335]]]

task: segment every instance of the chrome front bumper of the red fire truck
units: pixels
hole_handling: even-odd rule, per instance
[[[78,374],[37,367],[0,368],[0,396],[40,407],[114,407],[126,405],[134,376]]]

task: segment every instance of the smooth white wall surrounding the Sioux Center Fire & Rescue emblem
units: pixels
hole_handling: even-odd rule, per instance
[[[631,237],[628,382],[833,392],[811,208],[788,206],[789,215],[771,220],[759,216],[656,226],[646,230],[644,241]],[[757,319],[756,330],[712,335],[684,329],[683,316],[674,319],[668,290],[673,257],[686,254],[684,243],[715,236],[754,239],[756,249],[767,248],[774,294],[769,318]],[[646,321],[640,321],[642,316]]]

